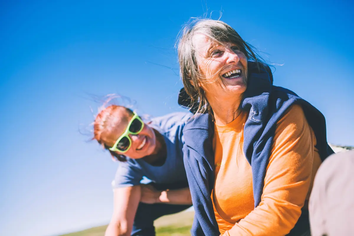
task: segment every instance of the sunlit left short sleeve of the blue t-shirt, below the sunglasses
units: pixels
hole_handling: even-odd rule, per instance
[[[120,162],[114,178],[113,188],[139,185],[143,179],[142,170],[131,160]]]

